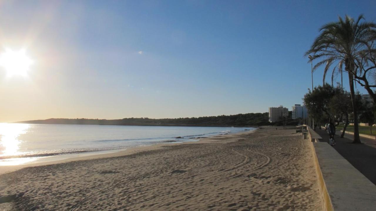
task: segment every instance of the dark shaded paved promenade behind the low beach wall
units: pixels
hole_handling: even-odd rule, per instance
[[[329,140],[329,135],[324,130],[316,128],[323,141]],[[353,135],[345,134],[340,138],[341,132],[338,130],[335,136],[336,145],[333,147],[349,163],[376,185],[376,140],[360,137],[362,144],[353,144]]]

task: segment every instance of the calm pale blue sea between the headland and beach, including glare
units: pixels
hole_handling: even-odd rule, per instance
[[[186,142],[255,128],[47,125],[0,123],[0,166],[99,154],[156,143]],[[177,139],[176,137],[182,137]],[[46,159],[47,158],[47,159]]]

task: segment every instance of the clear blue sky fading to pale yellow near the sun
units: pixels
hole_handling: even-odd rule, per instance
[[[311,87],[303,54],[318,28],[345,14],[376,21],[375,8],[344,0],[5,1],[0,51],[26,48],[35,63],[27,78],[0,69],[0,122],[291,110]]]

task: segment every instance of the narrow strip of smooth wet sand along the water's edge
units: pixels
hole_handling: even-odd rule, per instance
[[[226,138],[230,136],[235,136],[237,134],[240,135],[240,134],[247,134],[247,133],[255,133],[255,131],[257,130],[258,129],[256,128],[255,130],[251,130],[251,131],[242,131],[238,133],[230,133],[230,134],[223,134],[223,135],[218,135],[218,136],[213,136],[213,137],[205,137],[205,138],[200,138],[200,140],[198,141],[185,141],[185,142],[179,142],[179,143],[161,142],[161,143],[156,143],[152,145],[134,146],[134,147],[124,148],[124,149],[113,149],[113,150],[108,150],[108,151],[93,151],[93,152],[83,152],[83,153],[77,153],[77,154],[56,155],[58,157],[62,157],[62,156],[68,156],[68,157],[61,158],[58,160],[52,160],[52,161],[40,161],[40,162],[35,162],[35,163],[0,166],[0,175],[4,173],[14,172],[16,170],[20,170],[26,167],[45,166],[45,165],[53,165],[53,164],[67,163],[67,162],[73,162],[73,161],[94,160],[94,159],[100,159],[100,158],[120,157],[120,156],[135,154],[138,152],[155,150],[155,149],[161,148],[162,146],[191,144],[191,143],[207,143],[207,141],[210,139],[218,139],[221,137]],[[93,155],[85,155],[85,153],[93,154]],[[52,157],[54,156],[41,158],[41,159],[49,159]]]

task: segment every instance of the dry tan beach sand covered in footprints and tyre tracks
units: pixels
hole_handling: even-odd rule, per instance
[[[295,130],[146,149],[2,174],[0,197],[11,202],[0,210],[321,208],[309,142]]]

